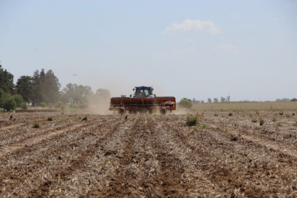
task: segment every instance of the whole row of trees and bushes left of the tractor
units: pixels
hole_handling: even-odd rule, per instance
[[[13,75],[0,64],[0,108],[5,111],[17,107],[26,109],[48,104],[86,104],[89,100],[110,99],[110,91],[98,89],[94,94],[90,86],[69,83],[60,91],[61,84],[52,70],[36,70],[32,76],[21,76],[16,84]]]

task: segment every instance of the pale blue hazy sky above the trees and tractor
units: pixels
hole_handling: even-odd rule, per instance
[[[297,98],[297,0],[0,0],[0,61],[113,97]]]

